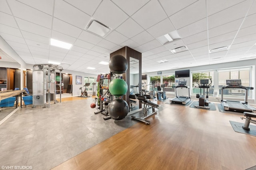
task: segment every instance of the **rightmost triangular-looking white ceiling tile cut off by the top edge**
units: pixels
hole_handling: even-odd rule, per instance
[[[207,1],[207,14],[208,16],[220,12],[230,6],[238,4],[244,0],[208,0]],[[220,5],[221,4],[221,5]]]

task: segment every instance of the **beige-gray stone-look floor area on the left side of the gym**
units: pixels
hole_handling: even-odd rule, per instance
[[[47,170],[137,123],[130,117],[104,121],[104,115],[95,115],[97,110],[90,108],[93,100],[18,109],[0,125],[1,167]]]

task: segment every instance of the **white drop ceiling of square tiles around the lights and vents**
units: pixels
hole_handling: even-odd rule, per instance
[[[92,20],[108,34],[89,32]],[[171,32],[180,39],[159,41]],[[256,58],[256,0],[1,0],[0,36],[28,64],[92,74],[109,72],[99,62],[124,46],[142,53],[142,73],[225,63]],[[51,38],[72,47],[51,46]],[[188,50],[171,52],[181,46]]]

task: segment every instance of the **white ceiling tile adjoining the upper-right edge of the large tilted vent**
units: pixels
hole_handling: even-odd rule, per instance
[[[104,0],[94,13],[93,17],[100,21],[102,24],[116,29],[120,26],[129,16],[125,14],[110,0]]]

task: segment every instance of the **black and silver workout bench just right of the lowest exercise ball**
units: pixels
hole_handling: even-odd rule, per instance
[[[138,121],[142,121],[144,122],[146,125],[150,124],[150,121],[146,120],[147,117],[150,117],[151,115],[154,115],[157,113],[157,111],[155,110],[155,108],[158,108],[159,105],[156,103],[153,103],[151,101],[148,100],[148,97],[146,96],[137,96],[136,95],[130,95],[129,96],[130,99],[138,99],[139,101],[141,101],[144,104],[144,117],[136,117],[136,116],[132,116],[132,119],[136,119]],[[150,107],[152,108],[152,113],[148,114],[148,109],[150,109]]]

